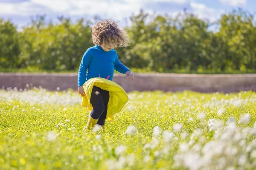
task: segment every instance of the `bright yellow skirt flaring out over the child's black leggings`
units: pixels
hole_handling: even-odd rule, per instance
[[[81,95],[81,105],[88,107],[90,111],[93,110],[93,107],[90,103],[93,86],[109,91],[106,120],[113,120],[114,114],[120,112],[129,100],[125,90],[120,85],[108,79],[97,77],[87,80],[87,82],[85,82],[83,85],[85,96]]]

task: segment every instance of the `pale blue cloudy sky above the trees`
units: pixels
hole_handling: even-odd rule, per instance
[[[186,8],[201,19],[217,21],[221,14],[243,8],[256,14],[256,0],[0,0],[0,18],[11,19],[19,28],[27,25],[31,17],[45,15],[47,20],[57,17],[119,20],[122,26],[132,14],[143,9],[148,14],[175,16]]]

